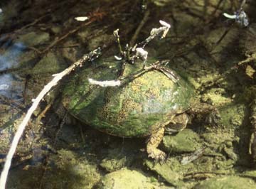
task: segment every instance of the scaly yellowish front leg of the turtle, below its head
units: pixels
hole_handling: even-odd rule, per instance
[[[156,161],[160,162],[166,160],[166,153],[157,148],[163,137],[164,127],[161,127],[159,130],[157,130],[156,132],[151,134],[151,136],[149,136],[149,140],[147,141],[146,144],[146,152],[149,154],[149,157],[154,158]]]

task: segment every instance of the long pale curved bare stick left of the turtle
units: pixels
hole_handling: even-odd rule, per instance
[[[92,51],[92,55],[97,55],[97,50]],[[31,115],[33,112],[36,110],[36,107],[38,107],[39,102],[41,102],[41,99],[50,91],[50,89],[57,85],[58,81],[61,80],[61,78],[65,75],[68,75],[72,70],[74,70],[76,67],[79,65],[82,65],[83,62],[86,60],[90,59],[90,55],[85,55],[83,58],[78,60],[77,62],[73,63],[73,65],[70,65],[70,67],[66,68],[62,72],[55,74],[53,77],[53,80],[48,82],[48,84],[43,87],[43,90],[39,93],[39,95],[36,97],[36,99],[33,100],[32,106],[28,109],[28,112],[21,122],[21,124],[18,126],[18,130],[16,131],[16,134],[14,136],[14,140],[11,143],[11,148],[9,149],[9,152],[6,156],[6,162],[4,163],[4,169],[1,172],[1,178],[0,178],[0,189],[4,189],[6,186],[6,180],[7,180],[7,175],[9,173],[9,169],[11,166],[11,160],[14,156],[14,153],[16,151],[16,147],[18,145],[18,141],[21,138],[21,135],[23,134],[23,131],[26,127],[26,124],[28,124],[29,119],[31,118]]]

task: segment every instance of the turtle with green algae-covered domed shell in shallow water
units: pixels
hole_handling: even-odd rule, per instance
[[[147,64],[157,62],[148,60]],[[63,87],[63,105],[82,123],[107,134],[148,137],[148,156],[164,161],[166,153],[158,146],[164,131],[173,133],[186,127],[193,87],[171,68],[145,71],[140,63],[125,66],[119,86],[101,87],[88,80],[117,80],[121,67],[112,58],[85,65]]]

